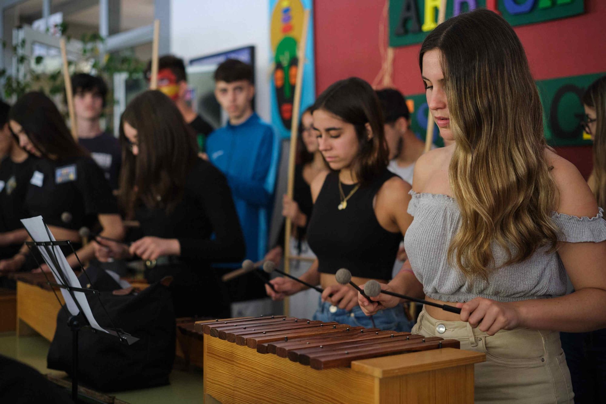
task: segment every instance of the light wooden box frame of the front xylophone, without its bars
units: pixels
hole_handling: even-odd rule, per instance
[[[205,403],[473,403],[480,352],[442,348],[315,370],[204,335]]]

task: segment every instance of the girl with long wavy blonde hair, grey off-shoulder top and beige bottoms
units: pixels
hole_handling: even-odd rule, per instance
[[[420,281],[426,300],[461,308],[425,305],[412,332],[486,353],[476,403],[571,403],[559,331],[606,325],[602,209],[545,143],[524,48],[501,16],[478,9],[438,25],[419,66],[441,135],[455,142],[417,161],[404,238],[412,271],[382,288],[418,297]],[[368,315],[399,303],[372,300],[358,295]]]

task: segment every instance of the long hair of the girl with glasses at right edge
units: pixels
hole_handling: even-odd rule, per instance
[[[593,171],[591,188],[598,206],[606,207],[606,76],[585,90],[583,104],[596,110],[596,133],[593,135]]]

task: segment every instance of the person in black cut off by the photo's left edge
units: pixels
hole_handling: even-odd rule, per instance
[[[10,133],[9,109],[0,101],[0,260],[15,255],[27,239],[19,219],[27,217],[23,202],[36,160],[19,147]]]

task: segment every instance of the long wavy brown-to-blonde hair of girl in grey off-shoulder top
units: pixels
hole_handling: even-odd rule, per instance
[[[554,251],[558,190],[545,156],[543,113],[524,48],[501,16],[484,9],[448,19],[427,36],[441,52],[450,127],[448,175],[461,210],[448,260],[467,278]],[[556,204],[554,204],[554,201]],[[508,257],[496,263],[493,247]]]

